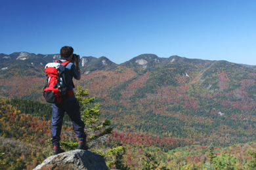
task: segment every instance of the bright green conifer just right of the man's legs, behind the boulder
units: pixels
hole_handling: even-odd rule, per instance
[[[106,160],[106,165],[110,167],[123,167],[129,169],[129,167],[122,165],[120,161],[125,154],[124,146],[117,146],[111,148],[107,152],[102,152],[98,148],[100,143],[106,142],[108,137],[111,135],[113,127],[110,126],[110,120],[105,120],[104,122],[98,122],[98,117],[100,116],[100,110],[98,109],[99,104],[94,103],[95,97],[89,97],[88,90],[83,90],[81,86],[77,87],[77,92],[75,97],[79,101],[80,110],[81,110],[81,119],[85,122],[85,133],[87,134],[87,144],[91,152],[100,154],[104,156]],[[67,143],[60,141],[60,146],[66,150],[75,150],[78,146],[78,143]],[[118,161],[119,160],[119,161]],[[117,161],[117,162],[116,162]]]

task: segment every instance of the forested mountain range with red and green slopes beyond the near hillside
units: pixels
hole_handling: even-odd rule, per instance
[[[0,95],[45,103],[44,67],[56,59],[60,54],[0,54]],[[180,145],[256,139],[255,66],[142,54],[119,65],[82,57],[80,68],[75,85],[96,97],[102,120],[110,119],[117,131]]]

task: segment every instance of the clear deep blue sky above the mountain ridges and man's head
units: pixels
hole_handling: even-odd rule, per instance
[[[123,63],[140,54],[256,65],[256,1],[1,0],[0,53],[58,54]]]

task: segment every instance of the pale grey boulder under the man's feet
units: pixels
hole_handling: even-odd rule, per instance
[[[50,156],[33,170],[108,170],[105,160],[88,150],[73,150]]]

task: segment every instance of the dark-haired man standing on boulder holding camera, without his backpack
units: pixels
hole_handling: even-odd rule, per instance
[[[63,46],[60,49],[60,61],[70,61],[65,68],[65,79],[67,90],[72,91],[74,88],[74,83],[72,78],[80,80],[81,74],[79,69],[79,62],[81,61],[80,56],[73,54],[74,49],[71,46]],[[86,135],[85,135],[85,123],[81,120],[81,113],[79,110],[79,102],[75,98],[75,95],[69,96],[64,101],[53,104],[53,117],[51,122],[51,133],[53,139],[53,154],[60,154],[65,152],[60,148],[60,132],[62,129],[64,113],[67,113],[72,120],[73,129],[79,139],[78,149],[87,150],[88,146],[86,145]]]

